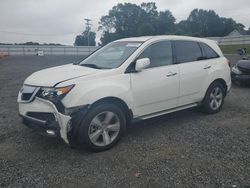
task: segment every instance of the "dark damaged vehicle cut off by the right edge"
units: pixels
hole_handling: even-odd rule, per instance
[[[246,48],[238,50],[242,59],[239,60],[235,66],[232,67],[231,77],[233,83],[237,85],[250,84],[250,59],[247,56]]]

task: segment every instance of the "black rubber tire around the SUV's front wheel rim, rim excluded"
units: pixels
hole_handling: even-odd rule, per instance
[[[89,136],[89,129],[90,129],[90,124],[92,120],[98,116],[98,114],[105,113],[105,112],[112,112],[118,117],[119,123],[120,123],[120,130],[116,138],[108,145],[105,146],[98,146],[95,145]],[[110,104],[110,103],[101,103],[98,105],[93,106],[88,114],[82,119],[80,122],[80,126],[78,128],[78,133],[77,133],[77,140],[80,143],[80,145],[84,148],[87,148],[88,150],[91,151],[104,151],[112,148],[122,137],[126,130],[126,117],[124,115],[124,112],[119,108],[117,105]],[[103,138],[104,139],[104,138]]]

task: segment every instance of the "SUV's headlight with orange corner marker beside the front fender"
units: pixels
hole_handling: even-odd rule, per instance
[[[61,100],[75,85],[57,88],[41,88],[40,97],[51,101]]]

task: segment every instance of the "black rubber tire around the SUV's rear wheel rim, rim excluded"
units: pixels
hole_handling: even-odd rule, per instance
[[[213,99],[211,99],[211,94],[212,94],[212,92],[215,91],[216,88],[218,88],[222,92],[221,102],[219,103],[219,107],[217,107],[217,108],[212,107],[213,105],[211,105],[211,102],[213,100]],[[226,88],[223,86],[223,84],[221,84],[220,82],[212,83],[209,86],[209,88],[207,89],[206,95],[202,101],[202,104],[201,104],[202,112],[205,112],[208,114],[218,113],[224,104],[225,94],[226,94]]]

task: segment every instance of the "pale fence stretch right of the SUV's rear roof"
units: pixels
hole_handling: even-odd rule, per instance
[[[243,35],[238,37],[210,37],[209,39],[216,40],[219,45],[250,44],[250,35]]]

